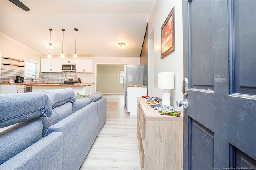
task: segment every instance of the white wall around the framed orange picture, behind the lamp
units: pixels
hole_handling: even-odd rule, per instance
[[[175,51],[161,59],[161,27],[168,14],[174,7],[174,37]],[[175,89],[171,92],[171,105],[182,111],[182,107],[176,107],[177,100],[183,100],[182,79],[183,79],[183,33],[182,33],[182,0],[158,0],[152,10],[148,20],[149,38],[153,44],[149,43],[149,72],[148,94],[162,98],[164,89],[158,89],[158,72],[174,72]],[[153,39],[153,40],[152,40]],[[150,42],[150,41],[149,41]],[[152,82],[152,83],[150,83]]]

